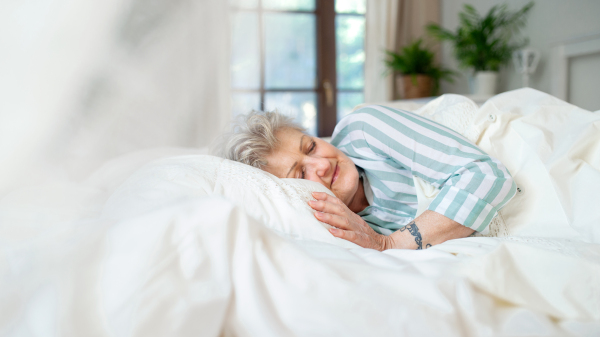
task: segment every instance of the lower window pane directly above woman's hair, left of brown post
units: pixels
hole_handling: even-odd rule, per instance
[[[265,110],[277,110],[317,134],[317,95],[314,92],[270,92],[265,95]]]

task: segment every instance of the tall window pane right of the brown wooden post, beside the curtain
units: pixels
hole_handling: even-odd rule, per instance
[[[338,88],[361,89],[364,86],[365,18],[338,15],[335,23]]]

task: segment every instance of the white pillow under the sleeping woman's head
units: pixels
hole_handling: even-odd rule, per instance
[[[357,245],[334,237],[308,206],[311,192],[333,193],[318,183],[279,179],[254,167],[206,156],[181,156],[146,165],[109,198],[103,216],[123,219],[206,195],[222,195],[282,236],[337,246]],[[313,199],[314,200],[314,199]]]

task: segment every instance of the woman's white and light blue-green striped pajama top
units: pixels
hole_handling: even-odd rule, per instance
[[[360,108],[338,123],[331,144],[364,171],[372,203],[358,215],[382,234],[414,220],[413,176],[440,190],[429,210],[478,232],[516,192],[500,161],[457,132],[408,111]]]

